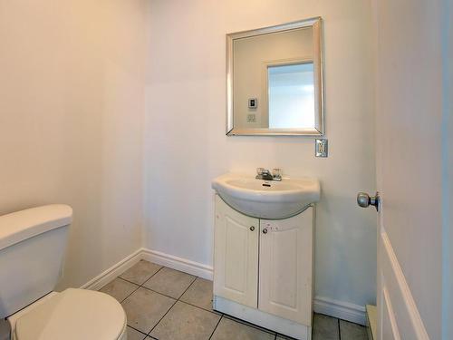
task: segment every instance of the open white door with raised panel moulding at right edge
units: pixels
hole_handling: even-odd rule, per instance
[[[448,142],[442,131],[443,76],[448,76],[442,45],[447,41],[441,34],[445,19],[451,19],[444,12],[448,2],[375,1],[382,340],[450,338],[442,335],[442,202],[447,184],[442,169],[443,156],[452,150],[442,143]]]

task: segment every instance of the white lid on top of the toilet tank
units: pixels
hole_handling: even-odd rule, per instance
[[[0,250],[72,222],[72,208],[51,204],[0,216]]]

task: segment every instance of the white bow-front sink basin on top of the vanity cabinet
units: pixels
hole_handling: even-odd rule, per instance
[[[227,173],[212,181],[212,189],[233,209],[259,219],[291,217],[320,197],[319,181],[310,178],[255,180]]]

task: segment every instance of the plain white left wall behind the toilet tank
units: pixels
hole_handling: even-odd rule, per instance
[[[72,206],[61,287],[140,248],[147,5],[0,3],[0,214]]]

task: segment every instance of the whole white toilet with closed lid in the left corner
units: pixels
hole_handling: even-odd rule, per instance
[[[0,216],[0,317],[13,340],[126,340],[120,303],[101,292],[53,292],[63,275],[72,208],[53,204]]]

